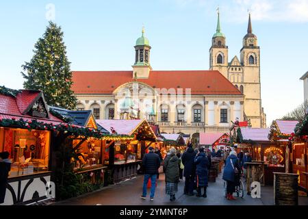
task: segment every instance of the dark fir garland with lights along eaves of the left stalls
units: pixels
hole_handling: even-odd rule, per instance
[[[133,136],[126,135],[111,135],[105,134],[96,129],[91,129],[88,127],[79,127],[77,125],[70,125],[67,123],[61,123],[59,125],[54,125],[53,123],[42,123],[38,122],[38,120],[17,120],[16,118],[12,119],[1,119],[0,118],[0,127],[13,127],[19,129],[27,129],[31,130],[48,130],[48,131],[59,131],[64,133],[70,133],[70,136],[78,137],[84,136],[86,138],[133,138]]]

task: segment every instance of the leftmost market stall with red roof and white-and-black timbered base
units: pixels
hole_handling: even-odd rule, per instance
[[[0,152],[12,161],[3,205],[47,199],[53,131],[63,123],[49,113],[36,90],[0,88]]]

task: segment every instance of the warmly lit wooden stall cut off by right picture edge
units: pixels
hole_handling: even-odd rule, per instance
[[[308,196],[308,114],[296,125],[294,133],[290,150],[292,163],[290,172],[299,175],[300,190],[304,190]]]

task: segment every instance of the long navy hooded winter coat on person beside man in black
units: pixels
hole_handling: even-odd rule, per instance
[[[209,159],[204,152],[199,153],[194,159],[196,164],[196,182],[198,187],[207,186]]]

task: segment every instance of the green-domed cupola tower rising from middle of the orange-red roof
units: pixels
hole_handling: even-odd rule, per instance
[[[136,57],[133,64],[133,78],[149,78],[150,71],[150,42],[144,36],[144,27],[142,27],[142,36],[136,41]]]

